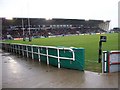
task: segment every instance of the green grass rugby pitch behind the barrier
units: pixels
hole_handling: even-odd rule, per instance
[[[102,35],[102,34],[101,34]],[[107,36],[107,42],[103,43],[103,50],[118,50],[118,34],[104,34]],[[79,35],[53,38],[37,38],[32,42],[22,40],[7,40],[9,43],[35,44],[45,46],[65,46],[65,47],[83,47],[85,48],[85,70],[101,72],[101,64],[98,63],[99,50],[98,35]]]

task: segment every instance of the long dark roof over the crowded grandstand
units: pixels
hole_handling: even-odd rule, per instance
[[[27,25],[28,18],[13,18],[7,20],[3,18],[4,25],[21,25],[22,19],[24,24]],[[52,18],[46,20],[45,18],[29,18],[31,25],[98,25],[103,23],[103,20],[85,20],[85,19],[63,19],[63,18]]]

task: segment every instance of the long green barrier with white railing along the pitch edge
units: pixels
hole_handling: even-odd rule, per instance
[[[2,49],[58,68],[84,70],[84,48],[2,43]]]

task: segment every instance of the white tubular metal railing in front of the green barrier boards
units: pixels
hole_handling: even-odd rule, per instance
[[[56,58],[58,62],[58,68],[60,68],[60,59],[65,59],[65,60],[72,60],[75,61],[75,53],[72,48],[66,48],[66,47],[53,47],[53,46],[38,46],[38,45],[27,45],[27,44],[17,44],[17,43],[12,43],[12,44],[7,44],[7,43],[2,43],[3,46],[2,48],[13,53],[17,54],[22,54],[22,56],[25,56],[25,53],[27,54],[27,58],[29,58],[29,53],[32,54],[32,59],[34,59],[34,54],[38,55],[39,62],[41,61],[41,56],[46,56],[47,57],[47,64],[49,65],[49,57]],[[37,52],[34,52],[34,48],[37,49]],[[42,53],[41,49],[45,49],[46,53]],[[30,51],[28,49],[31,49]],[[50,55],[49,49],[55,49],[57,51],[56,55]],[[60,50],[67,50],[72,53],[71,57],[63,57],[60,56]]]

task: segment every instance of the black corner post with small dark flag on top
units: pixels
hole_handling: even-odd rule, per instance
[[[101,63],[102,60],[102,42],[106,42],[106,36],[100,36],[100,41],[99,41],[99,57],[98,57],[98,62]]]

